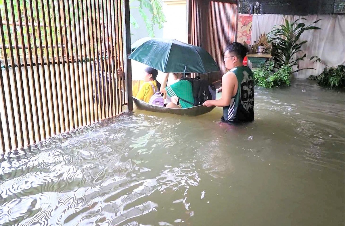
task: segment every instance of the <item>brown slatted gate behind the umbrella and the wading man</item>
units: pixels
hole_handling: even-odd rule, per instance
[[[220,68],[206,75],[210,82],[226,73],[224,49],[237,40],[237,23],[237,1],[188,0],[188,43],[205,48]]]

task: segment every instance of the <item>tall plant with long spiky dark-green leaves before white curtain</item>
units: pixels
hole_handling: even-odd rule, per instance
[[[306,20],[305,18],[301,18],[302,20]],[[281,68],[284,65],[288,65],[291,68],[293,66],[297,66],[297,70],[293,71],[292,73],[298,72],[304,69],[315,69],[315,68],[302,68],[299,69],[299,60],[304,60],[307,54],[304,54],[302,57],[294,58],[295,54],[302,52],[301,49],[304,44],[307,43],[306,40],[299,41],[300,36],[306,30],[319,30],[321,28],[312,26],[313,24],[317,23],[319,20],[316,20],[311,25],[306,26],[305,23],[299,23],[300,19],[295,20],[294,22],[289,22],[285,19],[285,24],[275,26],[272,31],[268,33],[269,42],[274,44],[275,46],[275,53],[273,56],[273,60],[276,63],[276,68]]]

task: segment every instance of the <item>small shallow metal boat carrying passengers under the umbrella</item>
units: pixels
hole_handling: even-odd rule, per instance
[[[133,97],[133,102],[135,103],[137,108],[140,110],[163,112],[163,113],[178,114],[178,115],[191,115],[191,116],[206,114],[215,108],[215,106],[205,107],[203,105],[188,107],[188,108],[183,108],[183,109],[168,108],[168,107],[161,107],[161,106],[148,104],[144,101],[137,99],[136,97]]]

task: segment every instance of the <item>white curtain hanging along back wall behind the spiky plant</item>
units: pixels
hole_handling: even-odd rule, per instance
[[[293,22],[298,18],[306,25],[313,23],[318,19],[315,26],[321,30],[306,30],[300,36],[300,41],[307,40],[302,50],[307,56],[304,61],[299,62],[299,69],[312,67],[313,69],[301,70],[295,73],[297,78],[308,78],[309,75],[319,75],[325,66],[321,63],[312,63],[309,59],[312,56],[318,56],[328,66],[338,66],[345,64],[345,15],[309,15],[309,16],[284,16],[275,14],[254,15],[252,25],[251,44],[258,40],[263,32],[267,34],[273,26],[285,23],[285,18]],[[299,53],[300,56],[303,56]]]

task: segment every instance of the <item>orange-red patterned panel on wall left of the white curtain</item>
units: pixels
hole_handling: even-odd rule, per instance
[[[238,15],[238,30],[237,41],[243,43],[245,41],[250,44],[250,37],[252,36],[253,15],[239,14]]]

